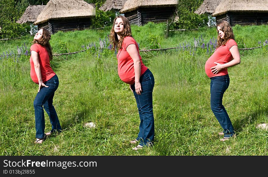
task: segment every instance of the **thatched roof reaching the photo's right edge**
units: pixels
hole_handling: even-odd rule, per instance
[[[267,0],[224,0],[211,16],[219,16],[226,12],[268,12]]]

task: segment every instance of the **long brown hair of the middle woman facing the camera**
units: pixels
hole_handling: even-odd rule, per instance
[[[120,38],[120,40],[118,40],[117,34],[115,33],[115,20],[118,19],[118,18],[121,18],[122,19],[123,25],[124,25],[124,31],[121,34],[122,37]],[[113,45],[112,50],[115,50],[116,47],[118,49],[121,49],[122,48],[123,39],[126,36],[131,36],[132,37],[131,27],[130,27],[129,20],[125,16],[122,16],[122,15],[116,16],[115,19],[114,19],[114,23],[113,23],[112,29],[110,31],[110,35],[109,35],[110,43],[111,43],[111,45]]]

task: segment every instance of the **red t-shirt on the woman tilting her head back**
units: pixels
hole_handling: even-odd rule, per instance
[[[56,74],[50,66],[48,51],[47,51],[46,47],[39,45],[39,44],[33,44],[30,48],[30,52],[31,51],[35,51],[38,53],[38,60],[40,63],[42,81],[46,82],[50,78],[55,76]],[[31,78],[32,78],[33,82],[35,82],[36,84],[39,84],[37,75],[36,75],[35,70],[34,70],[32,56],[30,57],[30,65],[31,65],[31,71],[30,71]]]

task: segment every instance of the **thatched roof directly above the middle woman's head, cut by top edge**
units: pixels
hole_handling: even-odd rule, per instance
[[[177,4],[178,0],[127,0],[119,12],[130,12],[139,7],[170,7]]]

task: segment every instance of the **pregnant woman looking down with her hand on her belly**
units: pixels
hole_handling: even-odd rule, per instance
[[[227,69],[238,65],[241,61],[231,25],[222,20],[216,24],[216,27],[218,45],[215,52],[206,61],[205,71],[210,78],[210,107],[223,128],[223,131],[218,133],[224,136],[220,141],[226,141],[234,136],[233,125],[222,105],[223,94],[230,83]]]

